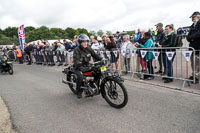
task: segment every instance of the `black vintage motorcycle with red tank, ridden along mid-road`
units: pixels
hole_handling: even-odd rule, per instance
[[[85,97],[93,97],[101,94],[106,102],[114,108],[123,108],[128,102],[127,89],[124,80],[117,73],[112,73],[105,65],[105,60],[90,64],[90,71],[85,72],[82,88]],[[74,94],[77,94],[76,79],[72,66],[64,69],[63,83],[68,84]]]

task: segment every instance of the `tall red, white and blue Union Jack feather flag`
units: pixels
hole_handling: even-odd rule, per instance
[[[20,45],[21,45],[22,52],[24,52],[24,44],[25,44],[25,38],[26,38],[24,25],[21,25],[18,28],[18,36],[19,36],[19,42],[20,42]]]

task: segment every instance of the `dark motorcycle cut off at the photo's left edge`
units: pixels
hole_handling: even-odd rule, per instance
[[[8,72],[10,75],[13,74],[13,64],[3,52],[0,52],[0,71],[1,73]]]

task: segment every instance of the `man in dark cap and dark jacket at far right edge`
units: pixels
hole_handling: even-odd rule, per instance
[[[187,40],[190,42],[189,46],[194,48],[196,50],[195,55],[194,53],[191,56],[191,67],[192,67],[192,76],[190,76],[190,79],[193,80],[194,77],[194,72],[195,72],[195,78],[196,78],[196,83],[198,82],[199,79],[199,51],[200,51],[200,13],[199,12],[194,12],[192,16],[193,24],[190,26],[190,31],[187,36]],[[193,60],[193,57],[195,56],[195,62]],[[195,64],[195,71],[194,71],[194,66]]]

